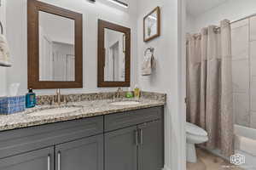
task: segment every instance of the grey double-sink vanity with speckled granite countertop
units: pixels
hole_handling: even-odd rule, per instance
[[[0,116],[1,170],[160,170],[163,101],[81,101],[81,111],[35,116],[46,106]],[[74,104],[73,104],[74,105]],[[32,115],[31,115],[32,114]]]

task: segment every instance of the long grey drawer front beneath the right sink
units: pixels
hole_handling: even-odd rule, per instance
[[[137,111],[126,111],[105,116],[105,131],[131,127],[143,122],[150,122],[161,118],[163,107],[153,107]]]

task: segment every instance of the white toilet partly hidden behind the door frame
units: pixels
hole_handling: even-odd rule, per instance
[[[197,127],[192,123],[186,123],[187,137],[187,161],[195,163],[197,156],[195,152],[195,144],[202,144],[208,141],[207,132],[201,127]]]

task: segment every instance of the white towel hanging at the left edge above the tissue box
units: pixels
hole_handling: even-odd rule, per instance
[[[6,38],[0,34],[0,63],[10,65],[9,46]]]

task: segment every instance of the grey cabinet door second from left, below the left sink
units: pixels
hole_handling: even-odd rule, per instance
[[[55,170],[103,170],[103,134],[55,146]]]

